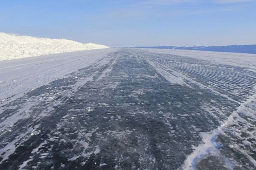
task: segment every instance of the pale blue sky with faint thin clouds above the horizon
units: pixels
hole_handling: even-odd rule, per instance
[[[1,0],[0,32],[109,46],[256,44],[256,0]]]

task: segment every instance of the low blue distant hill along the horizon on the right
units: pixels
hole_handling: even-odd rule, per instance
[[[218,52],[238,52],[256,54],[255,45],[228,45],[228,46],[141,46],[135,48],[187,49]]]

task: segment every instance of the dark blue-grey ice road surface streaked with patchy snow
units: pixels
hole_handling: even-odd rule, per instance
[[[0,169],[256,168],[255,65],[164,50],[102,54],[2,101]]]

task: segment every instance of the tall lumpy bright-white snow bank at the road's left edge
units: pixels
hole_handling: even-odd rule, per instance
[[[83,44],[67,39],[38,38],[0,32],[0,60],[101,48],[108,47],[94,43]]]

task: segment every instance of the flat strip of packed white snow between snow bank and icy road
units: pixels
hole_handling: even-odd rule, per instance
[[[0,61],[0,106],[24,93],[86,67],[115,48]]]

